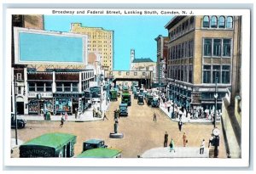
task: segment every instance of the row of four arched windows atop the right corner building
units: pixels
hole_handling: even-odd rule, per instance
[[[233,17],[232,16],[204,16],[202,22],[203,28],[233,28]]]

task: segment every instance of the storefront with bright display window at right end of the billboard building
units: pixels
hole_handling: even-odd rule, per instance
[[[82,93],[54,93],[54,114],[61,115],[67,112],[68,115],[72,115],[75,108],[79,109],[81,99]]]

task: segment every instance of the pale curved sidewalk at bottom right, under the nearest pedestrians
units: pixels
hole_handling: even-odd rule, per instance
[[[200,154],[200,148],[177,147],[170,152],[170,148],[154,148],[144,152],[142,158],[209,158],[209,149],[205,148],[204,154]]]

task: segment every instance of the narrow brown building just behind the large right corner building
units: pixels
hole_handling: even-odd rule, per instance
[[[154,39],[157,42],[157,61],[156,61],[156,81],[161,81],[159,77],[165,79],[167,77],[167,60],[168,60],[168,36],[157,36]]]

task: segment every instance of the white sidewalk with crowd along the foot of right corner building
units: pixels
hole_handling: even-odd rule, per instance
[[[170,112],[168,112],[168,109],[165,107],[164,104],[160,104],[160,110],[162,112],[164,112],[172,121],[179,121],[178,118],[175,118],[175,119],[172,119],[172,106],[170,108]],[[198,118],[198,119],[190,119],[189,117],[186,117],[185,115],[182,116],[182,121],[183,122],[191,122],[191,123],[211,123],[212,124],[212,121],[211,120],[208,120],[208,119],[201,119],[201,118]]]

